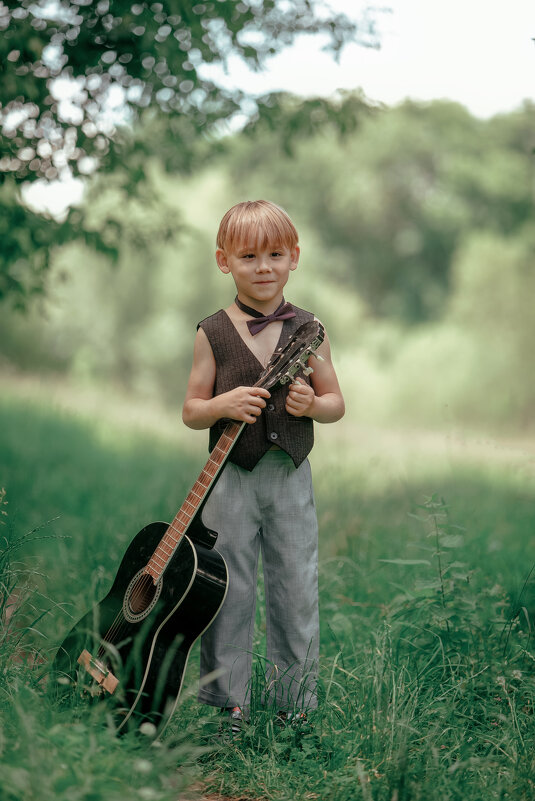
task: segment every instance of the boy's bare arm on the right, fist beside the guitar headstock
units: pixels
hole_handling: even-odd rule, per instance
[[[299,378],[290,384],[286,411],[294,417],[311,417],[317,423],[335,423],[344,416],[345,404],[327,335],[318,348],[318,355],[323,357],[323,361],[313,356],[309,359],[314,370],[310,376],[311,384],[305,384]]]

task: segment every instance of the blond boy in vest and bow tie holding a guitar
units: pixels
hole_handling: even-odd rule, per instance
[[[244,421],[206,503],[229,571],[223,606],[202,638],[199,700],[230,713],[239,730],[250,701],[256,577],[261,549],[266,594],[266,696],[283,718],[317,706],[319,652],[317,520],[306,456],[313,420],[344,414],[327,337],[310,378],[268,392],[254,387],[277,347],[310,312],[284,302],[297,268],[297,231],[286,212],[259,200],[221,221],[216,261],[236,285],[235,301],[199,323],[183,408],[184,423],[210,429],[210,449],[229,419]]]

